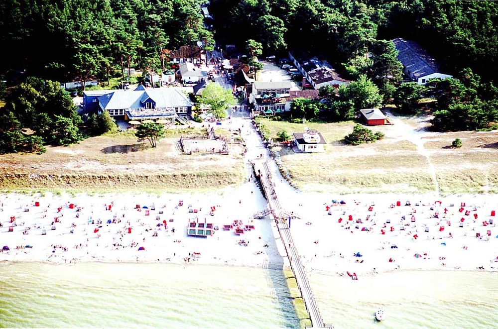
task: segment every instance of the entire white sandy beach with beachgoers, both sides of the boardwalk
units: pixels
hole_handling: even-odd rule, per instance
[[[279,185],[283,195],[292,192]],[[287,210],[296,216],[291,232],[307,271],[359,277],[397,269],[496,271],[495,200],[302,193]],[[9,250],[0,260],[277,266],[285,257],[274,221],[252,218],[265,208],[253,182],[190,195],[3,194],[0,244]],[[235,220],[254,228],[240,235],[223,229]],[[192,221],[218,229],[206,238],[188,236]]]

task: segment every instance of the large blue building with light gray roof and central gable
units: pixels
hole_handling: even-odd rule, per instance
[[[83,92],[84,113],[103,113],[125,120],[172,119],[192,114],[193,104],[176,88],[92,90]]]

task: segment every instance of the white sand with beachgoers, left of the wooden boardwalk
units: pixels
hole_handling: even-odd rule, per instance
[[[183,206],[177,207],[180,200],[183,201]],[[268,219],[251,218],[254,212],[265,208],[265,200],[255,186],[249,183],[238,189],[226,189],[221,194],[210,195],[115,194],[59,197],[47,194],[41,197],[8,194],[1,195],[0,202],[0,222],[3,225],[0,228],[0,248],[4,245],[10,248],[10,251],[0,253],[0,260],[178,263],[190,258],[187,261],[203,264],[265,266],[272,261],[281,263],[270,228],[271,222]],[[35,202],[39,202],[40,206],[35,207]],[[71,203],[75,204],[74,209],[69,208]],[[111,210],[106,210],[111,203]],[[188,212],[189,204],[198,210],[197,214]],[[135,205],[148,207],[149,215],[146,216],[146,209],[134,209]],[[152,205],[155,206],[155,211],[150,210]],[[212,206],[216,207],[214,216],[210,215]],[[62,207],[60,212],[59,207]],[[25,209],[29,211],[25,212]],[[163,214],[159,214],[159,211]],[[12,225],[11,216],[15,216],[17,225],[13,227],[13,232],[8,231]],[[159,219],[156,219],[157,216]],[[52,230],[52,222],[56,217],[60,222],[54,222],[56,229]],[[198,218],[201,222],[206,220],[219,229],[207,238],[187,236],[187,224],[192,218]],[[116,223],[107,223],[109,219],[116,219]],[[171,222],[170,219],[174,221]],[[231,224],[235,219],[252,224],[255,229],[245,231],[241,236],[236,235],[234,230],[224,231],[223,225]],[[163,220],[166,220],[166,229]],[[160,226],[156,226],[157,224]],[[131,233],[128,233],[128,227],[131,227]],[[94,232],[95,228],[99,228],[97,233]],[[172,228],[175,229],[174,233]],[[42,235],[43,229],[46,230],[46,235]],[[71,229],[74,229],[74,233],[70,232]],[[23,231],[27,234],[23,234]],[[153,236],[154,233],[157,236]],[[241,239],[249,241],[247,246],[238,243]],[[32,248],[17,249],[17,246],[27,244]],[[145,250],[139,251],[141,246]],[[200,255],[194,256],[194,252]]]

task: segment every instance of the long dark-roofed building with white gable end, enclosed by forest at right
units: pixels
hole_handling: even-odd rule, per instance
[[[392,42],[398,51],[398,60],[403,64],[404,73],[419,85],[426,84],[429,79],[452,78],[451,75],[441,73],[434,57],[415,41],[396,38]]]

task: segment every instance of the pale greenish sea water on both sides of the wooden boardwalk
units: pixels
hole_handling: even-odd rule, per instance
[[[310,274],[338,328],[497,328],[498,273]],[[382,307],[386,320],[373,313]],[[299,328],[281,270],[143,263],[0,264],[0,327]]]

